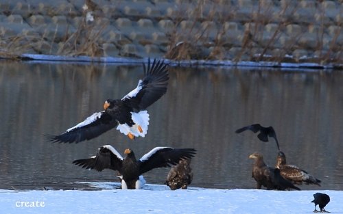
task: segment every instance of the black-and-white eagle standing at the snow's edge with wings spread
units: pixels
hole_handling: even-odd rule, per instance
[[[104,169],[117,170],[121,176],[121,189],[140,189],[141,183],[139,176],[154,168],[167,168],[178,164],[181,159],[190,159],[196,154],[193,148],[170,148],[156,147],[137,160],[134,152],[128,148],[124,152],[123,158],[113,148],[106,145],[99,148],[97,155],[88,159],[75,160],[73,163],[82,166],[82,168],[97,170],[101,172]]]

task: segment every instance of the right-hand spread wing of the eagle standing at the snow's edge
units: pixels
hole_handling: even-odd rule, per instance
[[[194,157],[196,150],[193,148],[155,147],[139,159],[140,174],[154,168],[166,168],[178,164],[181,159]]]

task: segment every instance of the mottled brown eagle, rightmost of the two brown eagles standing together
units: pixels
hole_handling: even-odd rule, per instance
[[[313,184],[320,186],[320,180],[308,174],[305,170],[298,168],[296,165],[287,165],[285,153],[279,151],[276,157],[275,168],[279,168],[281,176],[291,181],[294,184],[301,185]]]

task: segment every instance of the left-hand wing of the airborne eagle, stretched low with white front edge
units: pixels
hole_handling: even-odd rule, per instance
[[[106,111],[93,113],[83,122],[71,127],[61,135],[45,135],[51,142],[78,143],[93,139],[117,126],[118,122]]]

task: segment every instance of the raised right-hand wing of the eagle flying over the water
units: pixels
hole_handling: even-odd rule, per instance
[[[163,61],[156,62],[156,59],[154,59],[151,65],[149,59],[147,68],[143,64],[143,69],[145,75],[143,80],[139,80],[137,88],[122,98],[135,111],[146,109],[167,92],[169,79],[167,64],[164,64]]]

